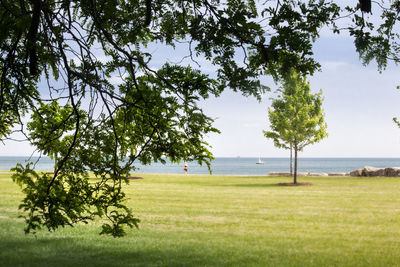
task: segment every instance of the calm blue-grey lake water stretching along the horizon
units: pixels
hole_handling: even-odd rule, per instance
[[[213,174],[234,175],[267,175],[269,172],[288,172],[288,158],[261,158],[263,165],[256,164],[258,158],[216,158],[211,168]],[[28,157],[0,156],[0,170],[10,170],[17,163],[26,164]],[[32,157],[30,161],[36,162],[36,170],[50,171],[54,163],[47,157],[40,159]],[[188,162],[189,174],[208,174],[206,166],[199,166]],[[135,165],[138,173],[183,173],[183,163],[161,164],[154,163],[148,166]],[[400,166],[400,158],[299,158],[299,172],[349,172],[364,166],[396,167]]]

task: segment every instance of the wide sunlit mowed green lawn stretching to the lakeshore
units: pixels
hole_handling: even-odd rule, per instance
[[[125,187],[140,229],[23,233],[0,172],[3,266],[400,266],[400,178],[150,175]]]

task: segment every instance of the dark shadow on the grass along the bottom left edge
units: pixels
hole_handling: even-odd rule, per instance
[[[134,240],[99,238],[38,238],[7,240],[1,237],[0,266],[206,266],[218,257],[198,254],[190,246],[170,248]],[[84,236],[82,238],[85,238]],[[222,262],[220,262],[222,263]]]

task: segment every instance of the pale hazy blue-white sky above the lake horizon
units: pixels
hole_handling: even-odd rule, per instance
[[[346,36],[323,34],[314,51],[322,72],[309,80],[314,92],[323,91],[329,136],[306,147],[300,156],[400,158],[400,128],[392,120],[400,117],[398,68],[390,66],[380,74],[375,65],[362,66],[352,39]],[[277,88],[270,79],[263,81],[273,90]],[[271,92],[257,102],[227,90],[221,97],[201,103],[221,131],[207,137],[215,156],[288,156],[287,150],[275,148],[262,133],[269,127],[267,109],[272,96]],[[0,156],[31,152],[26,143],[0,144]]]

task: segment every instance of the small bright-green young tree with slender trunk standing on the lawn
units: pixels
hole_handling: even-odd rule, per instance
[[[305,77],[292,70],[282,81],[281,94],[268,110],[270,131],[264,131],[276,147],[294,150],[293,183],[297,184],[297,152],[327,136],[322,92],[310,93]]]

